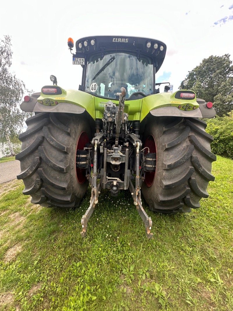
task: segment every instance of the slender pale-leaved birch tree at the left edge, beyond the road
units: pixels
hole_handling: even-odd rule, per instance
[[[11,38],[0,39],[0,141],[7,142],[14,156],[10,137],[17,136],[25,118],[30,114],[21,111],[19,102],[25,91],[25,84],[10,72],[12,59]]]

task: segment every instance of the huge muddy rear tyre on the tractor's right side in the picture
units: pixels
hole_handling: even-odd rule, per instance
[[[146,125],[143,142],[156,152],[155,172],[146,172],[141,190],[152,211],[188,212],[200,207],[208,197],[213,138],[205,132],[206,123],[198,118],[153,118]]]

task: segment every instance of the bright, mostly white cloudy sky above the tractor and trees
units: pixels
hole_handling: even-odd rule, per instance
[[[0,38],[10,35],[11,71],[39,92],[50,75],[78,89],[82,68],[72,65],[67,39],[113,35],[163,41],[167,53],[156,82],[177,90],[188,71],[210,55],[231,54],[233,0],[196,1],[1,1]]]

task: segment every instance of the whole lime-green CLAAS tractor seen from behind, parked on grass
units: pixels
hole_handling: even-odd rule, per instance
[[[152,220],[142,206],[162,213],[190,212],[207,198],[212,136],[200,118],[212,118],[212,103],[193,91],[160,92],[155,75],[166,45],[155,39],[95,36],[68,39],[73,64],[82,66],[79,90],[43,86],[25,96],[34,112],[20,135],[23,193],[44,207],[79,206],[88,186],[90,206],[81,219],[82,237],[102,189],[112,196],[130,190],[150,239]]]

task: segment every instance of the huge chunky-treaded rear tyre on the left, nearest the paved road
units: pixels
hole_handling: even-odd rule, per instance
[[[90,140],[90,127],[81,115],[39,113],[26,120],[19,136],[23,193],[42,206],[76,207],[84,197],[88,180],[85,170],[76,170],[76,150]]]

